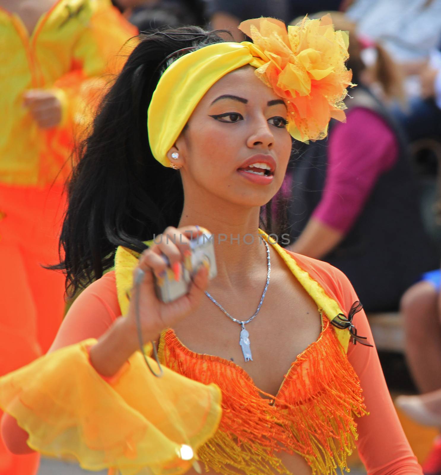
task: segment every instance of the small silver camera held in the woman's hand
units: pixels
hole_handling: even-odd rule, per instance
[[[173,271],[169,268],[166,270],[164,277],[154,276],[156,295],[162,302],[173,302],[182,295],[186,295],[193,276],[201,265],[208,265],[209,279],[216,277],[217,267],[213,239],[213,235],[204,233],[190,240],[192,254],[184,259],[180,280],[175,279]],[[168,261],[167,257],[163,256],[163,258]]]

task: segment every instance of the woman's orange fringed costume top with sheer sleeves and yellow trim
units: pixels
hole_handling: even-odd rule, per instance
[[[357,300],[347,277],[327,263],[275,248],[316,303],[328,302],[328,314],[321,312],[318,340],[298,355],[276,395],[263,394],[235,363],[191,352],[172,330],[161,335],[160,358],[165,366],[187,376],[185,381],[215,382],[222,391],[219,427],[198,447],[199,459],[221,474],[237,474],[240,468],[251,475],[289,474],[279,462],[278,455],[285,450],[303,456],[312,473],[336,474],[346,467],[346,456],[355,443],[369,475],[422,475],[394,410],[375,348],[347,347],[343,333],[329,323],[333,306],[347,315]],[[75,300],[50,352],[99,338],[124,313],[122,264],[117,258],[116,273],[109,272]],[[132,265],[126,264],[124,272],[131,274]],[[355,314],[353,323],[359,334],[373,342],[363,311]],[[121,384],[130,371],[118,377]],[[148,376],[148,371],[142,374]],[[104,384],[118,390],[118,382]],[[353,417],[363,415],[356,424]],[[4,423],[8,425],[7,420]],[[14,430],[20,430],[14,427],[9,429],[10,438],[15,437]]]

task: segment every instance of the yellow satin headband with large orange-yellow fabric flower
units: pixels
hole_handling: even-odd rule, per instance
[[[250,65],[256,75],[284,99],[288,131],[302,142],[326,137],[331,117],[345,120],[343,99],[352,73],[347,70],[347,33],[334,31],[330,15],[305,17],[286,29],[272,18],[242,22],[253,43],[216,43],[173,62],[152,95],[147,127],[150,149],[169,167],[174,145],[197,104],[221,77]]]

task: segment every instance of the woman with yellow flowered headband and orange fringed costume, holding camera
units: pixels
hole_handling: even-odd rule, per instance
[[[105,98],[62,235],[69,289],[94,282],[50,352],[0,380],[5,440],[124,475],[197,460],[209,474],[336,474],[358,440],[369,474],[421,475],[349,281],[259,228],[290,133],[318,139],[344,119],[347,37],[329,17],[241,29],[253,43],[191,27],[144,38]],[[214,236],[217,276],[201,266],[164,304],[154,276],[182,278],[195,224]]]

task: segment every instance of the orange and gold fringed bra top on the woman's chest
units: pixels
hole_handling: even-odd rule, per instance
[[[346,458],[357,440],[353,416],[367,412],[357,374],[327,319],[319,339],[292,363],[276,396],[260,391],[234,362],[188,350],[172,330],[161,338],[159,355],[173,371],[214,382],[222,391],[219,429],[198,450],[207,469],[290,475],[276,456],[283,450],[303,456],[313,475],[348,471]]]

